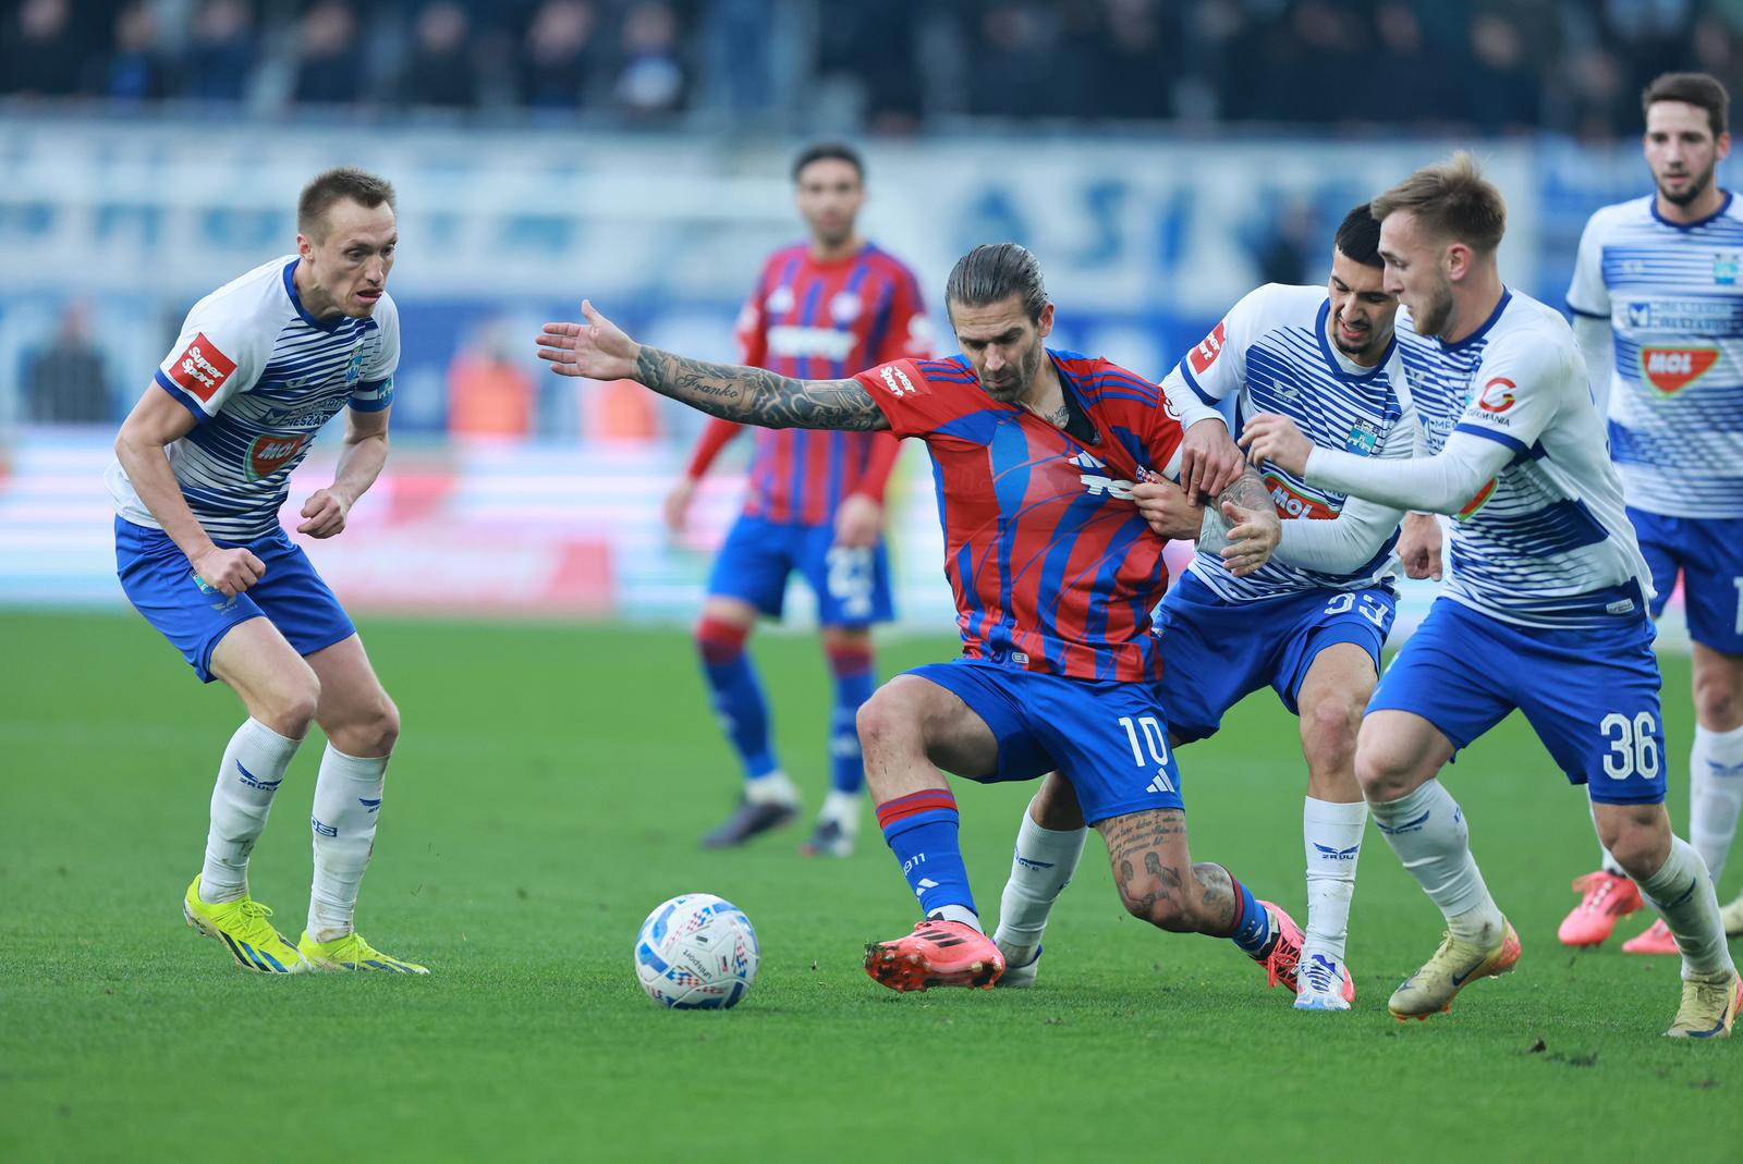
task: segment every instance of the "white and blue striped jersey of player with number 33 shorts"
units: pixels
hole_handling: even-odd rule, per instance
[[[1163,380],[1180,423],[1213,415],[1218,401],[1234,396],[1236,436],[1248,416],[1279,413],[1318,446],[1360,457],[1410,457],[1415,418],[1396,340],[1379,364],[1363,368],[1332,343],[1330,314],[1325,288],[1272,282],[1246,294]],[[1283,521],[1328,521],[1344,511],[1342,493],[1312,488],[1271,462],[1258,472]],[[1227,601],[1391,585],[1398,573],[1396,518],[1389,523],[1393,531],[1379,552],[1351,573],[1295,566],[1283,561],[1281,551],[1245,579],[1206,552],[1196,554],[1187,570]]]

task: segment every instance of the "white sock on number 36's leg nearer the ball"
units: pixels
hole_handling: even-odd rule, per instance
[[[1471,856],[1464,810],[1429,781],[1408,796],[1375,802],[1373,822],[1422,892],[1440,906],[1454,937],[1490,946],[1501,936],[1501,908]]]

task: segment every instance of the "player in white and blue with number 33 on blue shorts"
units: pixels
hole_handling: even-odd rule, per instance
[[[1196,498],[1201,486],[1218,493],[1241,469],[1241,451],[1215,408],[1229,397],[1239,401],[1236,416],[1285,413],[1325,448],[1410,457],[1415,413],[1393,340],[1398,300],[1382,288],[1379,246],[1380,225],[1363,202],[1339,225],[1326,286],[1258,288],[1168,375],[1163,390],[1187,429],[1182,497]],[[1211,462],[1203,472],[1199,450]],[[1354,985],[1344,946],[1368,822],[1356,782],[1356,730],[1398,601],[1393,545],[1403,514],[1311,490],[1278,465],[1258,470],[1283,518],[1276,558],[1236,577],[1220,554],[1199,547],[1156,612],[1163,706],[1175,746],[1213,735],[1224,713],[1260,687],[1300,716],[1307,932],[1295,1007],[1347,1011]],[[1034,981],[1048,913],[1082,845],[1070,786],[1049,775],[1018,826],[999,908],[1000,985]]]

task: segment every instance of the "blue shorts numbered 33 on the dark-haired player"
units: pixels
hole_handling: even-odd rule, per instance
[[[1260,687],[1300,714],[1307,667],[1326,646],[1354,643],[1380,671],[1398,598],[1382,587],[1306,591],[1246,603],[1218,598],[1190,573],[1156,608],[1163,640],[1163,706],[1175,739],[1213,735],[1222,716]]]

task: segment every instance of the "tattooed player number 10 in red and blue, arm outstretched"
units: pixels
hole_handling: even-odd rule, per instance
[[[997,981],[1004,957],[980,925],[945,770],[995,782],[1058,768],[1107,840],[1135,917],[1229,937],[1293,991],[1295,924],[1187,852],[1149,617],[1168,585],[1164,538],[1133,500],[1149,472],[1177,472],[1178,422],[1154,383],[1044,347],[1053,303],[1021,246],[969,251],[945,307],[962,355],[854,378],[793,380],[661,352],[586,301],[587,322],[546,324],[539,354],[561,375],[636,380],[734,420],[926,441],[962,655],[898,676],[859,713],[878,824],[924,913],[913,932],[866,946],[873,979],[891,990]],[[1251,573],[1278,544],[1264,483],[1246,469],[1217,504],[1232,526],[1231,570]]]

